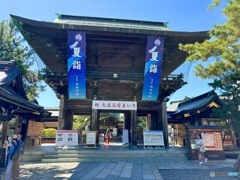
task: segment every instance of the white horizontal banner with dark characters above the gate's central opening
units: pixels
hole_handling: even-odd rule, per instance
[[[92,101],[92,109],[137,110],[136,101]]]

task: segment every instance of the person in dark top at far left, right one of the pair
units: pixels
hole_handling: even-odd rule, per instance
[[[23,141],[22,141],[22,134],[18,133],[17,135],[17,144],[18,144],[18,151],[16,152],[16,158],[14,158],[13,165],[12,165],[12,179],[17,180],[19,179],[19,174],[20,174],[20,160],[23,155]]]

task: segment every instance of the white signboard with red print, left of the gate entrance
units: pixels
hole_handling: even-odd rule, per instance
[[[77,130],[57,130],[56,146],[77,146],[78,131]]]

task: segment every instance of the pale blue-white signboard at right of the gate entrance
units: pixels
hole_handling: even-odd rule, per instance
[[[143,145],[164,146],[163,131],[143,131]]]

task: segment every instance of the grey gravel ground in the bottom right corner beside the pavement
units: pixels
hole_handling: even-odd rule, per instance
[[[222,176],[211,177],[210,172],[218,172]],[[238,177],[223,176],[226,172],[232,172],[232,168],[216,169],[163,169],[159,170],[164,180],[230,180]]]

